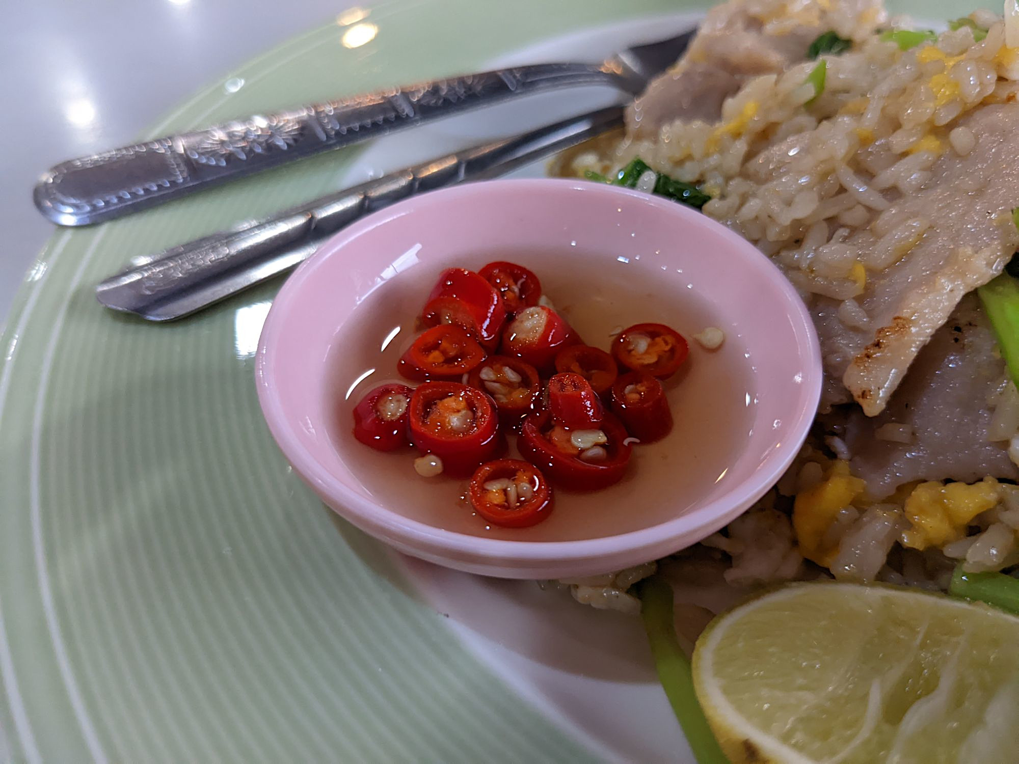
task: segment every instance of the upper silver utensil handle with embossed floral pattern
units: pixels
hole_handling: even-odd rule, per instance
[[[58,225],[104,222],[439,117],[596,84],[632,88],[622,67],[608,63],[537,64],[258,114],[58,164],[36,185],[36,207]]]

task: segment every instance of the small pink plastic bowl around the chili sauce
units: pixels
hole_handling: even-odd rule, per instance
[[[653,273],[656,289],[678,297],[693,289],[721,317],[727,337],[735,333],[748,350],[757,404],[725,483],[664,523],[571,541],[472,536],[414,520],[413,508],[381,505],[352,472],[334,437],[337,428],[341,437],[350,436],[346,425],[336,422],[328,359],[347,341],[343,329],[364,318],[359,305],[379,287],[395,299],[418,292],[423,298],[438,270],[479,256],[502,259],[514,252],[578,247],[593,269],[607,272],[626,262],[635,274]],[[810,316],[782,273],[752,244],[697,211],[600,183],[500,180],[415,197],[325,242],[273,303],[256,381],[269,429],[287,459],[328,506],[358,528],[441,565],[502,578],[555,579],[671,554],[749,508],[806,438],[820,395],[821,362]]]

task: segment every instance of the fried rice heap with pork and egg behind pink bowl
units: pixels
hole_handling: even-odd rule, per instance
[[[775,582],[945,589],[960,562],[1019,565],[1019,392],[973,293],[1019,247],[1017,23],[979,11],[904,37],[872,0],[731,0],[624,134],[553,167],[612,176],[639,157],[696,184],[818,329],[825,388],[796,462],[657,563],[689,622]],[[849,50],[808,57],[828,32]],[[655,568],[559,585],[635,610],[627,589]]]

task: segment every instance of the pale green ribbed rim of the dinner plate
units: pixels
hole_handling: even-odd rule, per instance
[[[697,7],[383,4],[366,19],[377,28],[368,44],[343,45],[350,17],[314,30],[229,72],[146,138]],[[970,3],[894,7],[944,17]],[[570,713],[582,699],[558,696],[558,714],[554,694],[530,693],[469,649],[470,630],[411,585],[413,565],[335,521],[290,473],[252,379],[278,284],[165,326],[94,297],[129,257],[331,190],[357,156],[59,231],[31,269],[0,340],[0,760],[453,764],[638,750],[592,745]],[[651,702],[667,722],[664,698]],[[628,713],[614,711],[624,723]],[[662,745],[675,734],[663,729]]]

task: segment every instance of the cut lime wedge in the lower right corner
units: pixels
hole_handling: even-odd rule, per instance
[[[716,618],[693,674],[734,764],[1019,762],[1019,617],[985,605],[794,585]]]

